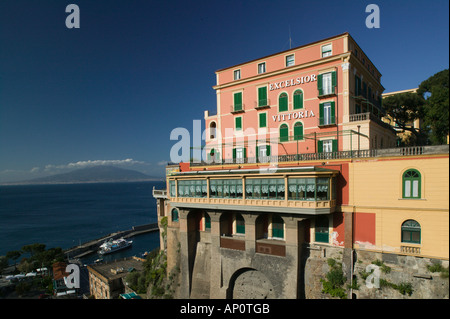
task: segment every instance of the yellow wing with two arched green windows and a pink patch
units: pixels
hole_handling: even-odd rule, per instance
[[[448,146],[428,148],[350,165],[343,210],[354,212],[355,249],[448,260]]]

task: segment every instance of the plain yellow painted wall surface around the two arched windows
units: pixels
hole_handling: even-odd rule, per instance
[[[421,199],[402,198],[402,175],[412,168],[421,173]],[[365,248],[399,253],[407,245],[419,247],[419,255],[448,259],[448,155],[355,161],[349,175],[349,205],[376,216],[375,246]],[[420,245],[401,243],[401,225],[407,219],[421,225]]]

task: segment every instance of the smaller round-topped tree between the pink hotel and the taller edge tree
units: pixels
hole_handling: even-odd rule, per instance
[[[424,116],[425,100],[415,93],[399,93],[383,99],[383,108],[397,127],[413,134],[412,144],[422,145],[426,137],[413,125],[415,120]]]

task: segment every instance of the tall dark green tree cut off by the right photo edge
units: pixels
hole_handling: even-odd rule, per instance
[[[446,144],[449,133],[449,73],[442,70],[419,85],[417,94],[424,98],[424,125],[430,129],[432,144]]]

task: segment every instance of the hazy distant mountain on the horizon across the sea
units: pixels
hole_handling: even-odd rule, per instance
[[[21,182],[3,183],[4,185],[22,184],[75,184],[75,183],[112,183],[112,182],[138,182],[157,181],[160,177],[153,177],[141,172],[118,168],[115,166],[93,166],[81,168],[69,173],[56,174],[46,177],[34,178]]]

